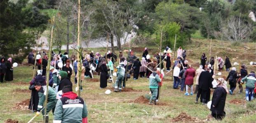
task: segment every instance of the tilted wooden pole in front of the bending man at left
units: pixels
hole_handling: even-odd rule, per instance
[[[50,39],[50,48],[49,48],[49,53],[48,56],[52,56],[52,37],[53,37],[53,27],[54,27],[54,17],[52,19],[52,30],[51,30],[51,39]],[[51,63],[51,58],[49,57],[48,62],[47,62],[47,68],[46,68],[46,95],[45,95],[45,120],[44,123],[46,123],[46,114],[47,114],[47,99],[48,99],[48,86],[49,86],[49,75],[50,75],[50,63]]]

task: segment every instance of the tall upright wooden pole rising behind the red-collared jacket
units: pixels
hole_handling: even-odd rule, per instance
[[[80,0],[78,0],[78,51],[80,51],[79,50],[80,49]],[[82,53],[82,51],[81,51],[81,53]],[[78,80],[78,86],[77,86],[77,88],[78,88],[78,96],[80,96],[80,77],[81,77],[81,62],[80,62],[80,52],[78,52],[78,78],[77,78],[77,80]]]

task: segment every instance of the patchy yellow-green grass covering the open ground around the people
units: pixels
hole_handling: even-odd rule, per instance
[[[247,43],[245,46],[251,47],[255,43]],[[218,55],[224,57],[225,54],[230,54],[231,62],[237,62],[233,60],[235,57],[241,59],[241,63],[248,66],[251,60],[255,60],[255,57],[251,55],[244,56],[244,49],[242,46],[233,46],[227,50],[227,47],[231,46],[229,43],[221,43],[213,40],[212,55]],[[188,59],[191,64],[195,64],[199,61],[202,52],[208,52],[209,44],[206,40],[195,40],[188,44]],[[99,49],[92,49],[94,52]],[[104,50],[104,48],[101,48]],[[106,50],[106,49],[105,49]],[[236,50],[236,52],[234,51]],[[103,53],[103,51],[102,51]],[[136,52],[137,56],[142,54]],[[247,53],[255,55],[255,48],[247,50]],[[153,52],[150,52],[150,55]],[[126,55],[126,54],[124,54]],[[197,68],[197,66],[195,66]],[[238,70],[238,67],[237,67]],[[255,67],[248,66],[248,71],[256,71]],[[28,92],[17,92],[16,89],[28,89],[29,81],[33,74],[32,66],[18,66],[14,68],[14,80],[12,82],[0,83],[0,123],[3,123],[8,118],[18,120],[19,123],[28,122],[35,113],[31,114],[29,110],[16,110],[12,109],[16,103],[23,100],[29,99],[31,93]],[[222,72],[224,76],[227,76],[228,72]],[[95,78],[99,79],[99,76],[94,75]],[[101,94],[110,89],[112,91],[112,83],[108,83],[106,89],[99,89],[99,82],[89,82],[85,79],[82,82],[83,91],[81,97],[87,103],[88,119],[89,123],[170,123],[173,118],[178,116],[181,112],[186,112],[188,115],[197,117],[200,120],[207,119],[207,116],[211,113],[209,109],[202,104],[195,104],[195,95],[184,96],[184,92],[172,89],[173,82],[170,76],[165,77],[167,81],[161,88],[160,102],[166,105],[147,105],[140,103],[130,103],[139,96],[144,96],[149,92],[148,79],[139,78],[139,80],[129,79],[127,81],[127,87],[132,88],[134,92],[112,92],[110,95]],[[194,79],[195,80],[195,79]],[[71,77],[71,81],[74,82],[74,75]],[[25,83],[25,84],[24,84]],[[243,86],[245,87],[245,86]],[[75,88],[75,84],[73,84]],[[75,89],[74,89],[75,90]],[[230,100],[238,99],[243,100],[245,93],[237,93],[235,89],[234,95],[227,95],[225,112],[226,118],[221,123],[254,123],[256,121],[255,112],[247,112],[247,103],[242,105],[235,105],[229,103]],[[211,94],[212,96],[212,94]],[[245,102],[245,101],[244,101]],[[255,103],[252,102],[252,103]],[[253,107],[249,104],[250,107]],[[52,121],[52,113],[49,114],[49,119]],[[34,123],[42,123],[42,115],[36,117]],[[208,121],[210,123],[218,122],[214,119]]]

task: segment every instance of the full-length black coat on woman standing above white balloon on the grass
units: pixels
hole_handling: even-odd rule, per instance
[[[105,88],[108,86],[108,71],[106,64],[101,65],[100,87]]]

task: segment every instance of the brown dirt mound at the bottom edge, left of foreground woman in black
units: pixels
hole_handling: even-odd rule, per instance
[[[185,112],[182,112],[175,118],[171,120],[171,122],[184,122],[184,123],[192,123],[192,122],[201,122],[198,118],[189,116]]]

